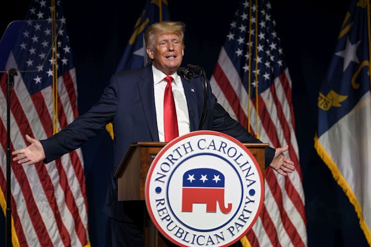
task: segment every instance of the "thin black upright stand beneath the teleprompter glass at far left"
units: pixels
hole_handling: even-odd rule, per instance
[[[12,209],[11,209],[11,166],[10,166],[10,90],[14,86],[14,77],[18,73],[15,69],[8,71],[7,90],[6,90],[6,223],[5,223],[5,243],[6,247],[12,246]]]

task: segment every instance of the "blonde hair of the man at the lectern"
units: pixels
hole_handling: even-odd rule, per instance
[[[162,32],[171,32],[177,34],[184,48],[184,31],[186,25],[183,22],[157,22],[152,24],[146,32],[144,33],[144,42],[146,42],[146,47],[154,48],[156,35]]]

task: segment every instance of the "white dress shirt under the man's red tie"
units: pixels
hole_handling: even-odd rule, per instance
[[[166,75],[152,65],[154,73],[155,88],[155,109],[157,118],[158,137],[160,141],[165,141],[163,125],[163,97],[167,82],[163,79]],[[186,101],[186,95],[182,84],[182,79],[177,73],[170,75],[174,80],[171,82],[171,88],[174,95],[175,109],[177,111],[179,136],[189,133],[189,115]]]

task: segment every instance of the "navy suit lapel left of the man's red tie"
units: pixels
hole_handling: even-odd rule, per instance
[[[138,88],[151,137],[154,141],[159,141],[155,109],[154,78],[151,64],[143,69],[143,73],[138,79]]]

